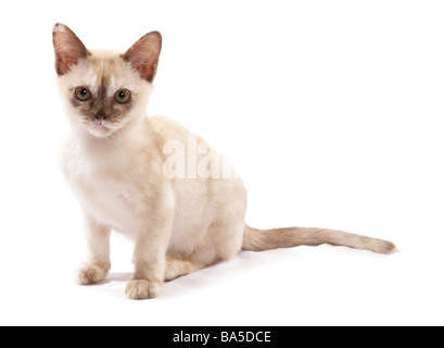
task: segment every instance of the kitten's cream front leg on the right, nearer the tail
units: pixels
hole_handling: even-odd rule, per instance
[[[168,196],[168,195],[166,195]],[[173,203],[157,201],[139,214],[134,253],[135,274],[126,294],[130,299],[156,297],[164,282],[165,254],[173,226]]]

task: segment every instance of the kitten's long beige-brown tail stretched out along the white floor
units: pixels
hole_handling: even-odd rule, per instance
[[[395,245],[391,241],[342,231],[310,227],[257,229],[248,225],[245,225],[242,249],[263,251],[302,245],[318,246],[321,244],[365,249],[379,253],[390,253],[396,249]]]

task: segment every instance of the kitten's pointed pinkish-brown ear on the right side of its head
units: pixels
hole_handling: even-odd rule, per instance
[[[161,33],[151,32],[132,45],[123,58],[131,64],[132,69],[137,71],[142,78],[152,83],[157,71],[161,49]]]

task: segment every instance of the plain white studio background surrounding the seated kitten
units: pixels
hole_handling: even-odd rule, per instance
[[[0,14],[1,325],[444,324],[442,1],[9,1]],[[131,244],[80,287],[78,207],[56,167],[51,29],[125,51],[164,46],[149,113],[225,153],[255,227],[393,240],[242,252],[130,301]]]

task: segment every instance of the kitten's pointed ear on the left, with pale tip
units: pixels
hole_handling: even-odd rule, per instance
[[[80,39],[66,25],[55,24],[52,29],[52,42],[55,52],[55,71],[59,76],[69,72],[81,58],[90,54]]]

